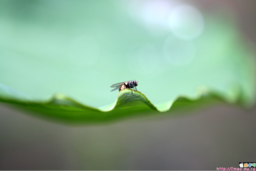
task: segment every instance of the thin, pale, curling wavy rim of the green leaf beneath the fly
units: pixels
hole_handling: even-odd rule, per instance
[[[18,92],[14,89],[11,89],[10,87],[8,87],[8,88],[9,88],[8,91]],[[2,89],[2,90],[4,90],[4,89]],[[150,107],[153,110],[156,110],[159,112],[166,112],[171,109],[172,105],[176,101],[178,101],[178,99],[183,98],[188,101],[196,101],[196,100],[200,99],[201,97],[207,96],[207,95],[214,95],[214,96],[224,100],[227,103],[240,103],[244,107],[250,107],[252,105],[252,104],[246,104],[246,103],[243,103],[240,101],[241,100],[240,97],[241,97],[241,93],[242,93],[240,86],[236,86],[235,91],[234,90],[232,91],[233,93],[224,93],[224,92],[216,91],[214,89],[210,89],[207,86],[200,86],[200,87],[198,87],[198,89],[194,95],[190,95],[190,96],[177,95],[174,99],[167,101],[166,103],[161,103],[159,105],[154,105],[153,103],[151,103],[148,100],[148,98],[140,91],[135,91],[135,92],[134,92],[134,90],[132,90],[132,91],[133,91],[133,93],[131,92],[130,89],[123,89],[122,91],[120,91],[118,93],[117,98],[113,103],[103,106],[103,107],[98,107],[98,108],[84,105],[84,104],[82,104],[82,103],[62,94],[62,93],[55,93],[48,100],[29,99],[29,98],[27,98],[27,96],[26,96],[26,99],[20,99],[20,98],[15,98],[15,97],[1,97],[1,93],[0,93],[0,101],[6,102],[6,103],[16,103],[16,104],[35,104],[35,105],[55,104],[55,105],[65,105],[65,106],[69,105],[69,106],[76,106],[76,107],[80,107],[80,108],[87,108],[87,109],[91,109],[91,110],[95,110],[95,111],[99,111],[99,112],[112,111],[116,107],[122,107],[123,104],[128,103],[130,101],[134,101],[134,100],[138,100],[142,103],[145,103],[146,105],[148,105],[148,107]],[[6,93],[10,93],[10,92],[6,92]],[[130,99],[127,100],[128,98],[130,98]],[[125,103],[121,103],[121,102],[124,102],[123,101],[124,99],[126,99]]]

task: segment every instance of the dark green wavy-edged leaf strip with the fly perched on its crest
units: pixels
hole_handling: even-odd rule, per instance
[[[114,103],[93,108],[63,94],[55,94],[48,101],[33,100],[10,87],[0,84],[0,101],[10,103],[26,111],[32,111],[33,115],[53,121],[81,124],[102,123],[134,116],[163,115],[164,113],[161,112],[168,114],[184,113],[185,111],[198,109],[198,107],[227,102],[228,97],[201,88],[195,97],[177,97],[170,102],[155,106],[141,92],[133,90],[132,93],[130,89],[124,89],[118,93]],[[239,99],[232,102],[239,103]]]

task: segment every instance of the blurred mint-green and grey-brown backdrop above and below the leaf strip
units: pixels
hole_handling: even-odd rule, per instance
[[[1,0],[0,83],[92,107],[115,101],[110,85],[127,80],[156,105],[202,85],[230,102],[240,87],[253,104],[255,9],[254,0]],[[256,160],[255,105],[86,127],[0,105],[0,169],[212,170]]]

